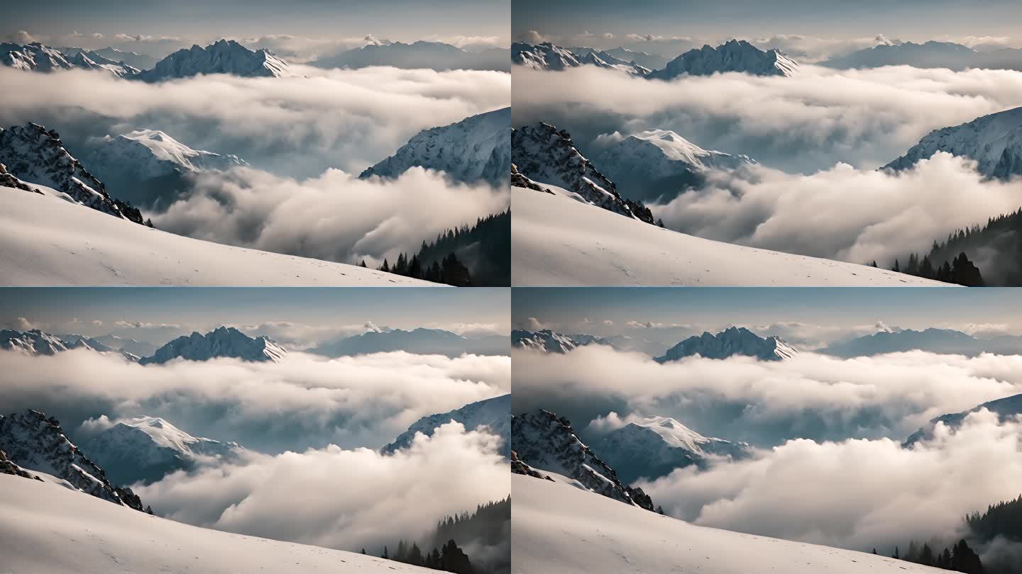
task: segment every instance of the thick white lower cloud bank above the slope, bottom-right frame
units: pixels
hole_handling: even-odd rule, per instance
[[[963,517],[1014,499],[1022,424],[986,411],[932,441],[791,440],[749,461],[675,471],[643,489],[668,514],[705,526],[869,552],[910,539],[945,543]]]

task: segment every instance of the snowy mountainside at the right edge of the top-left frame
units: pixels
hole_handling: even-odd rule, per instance
[[[442,171],[459,182],[507,185],[511,169],[511,108],[495,109],[461,122],[423,130],[393,155],[360,178],[397,178],[409,168]]]

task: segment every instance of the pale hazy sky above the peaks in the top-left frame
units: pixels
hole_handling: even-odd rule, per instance
[[[38,36],[93,34],[117,43],[119,34],[181,39],[181,44],[221,37],[293,35],[420,40],[427,37],[498,37],[508,41],[508,0],[108,0],[15,2],[4,7],[0,38],[17,31]],[[95,42],[93,42],[95,43]]]

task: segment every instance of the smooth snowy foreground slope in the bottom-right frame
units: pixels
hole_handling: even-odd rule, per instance
[[[564,482],[512,475],[511,491],[514,574],[946,572],[882,556],[694,526]]]

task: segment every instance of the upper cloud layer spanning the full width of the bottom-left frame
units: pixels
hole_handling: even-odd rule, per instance
[[[0,388],[5,413],[41,410],[72,433],[87,432],[81,422],[102,415],[159,416],[196,436],[267,452],[378,447],[420,417],[509,392],[511,376],[506,356],[406,352],[143,367],[85,350],[37,357],[0,351],[0,368],[8,374]]]

